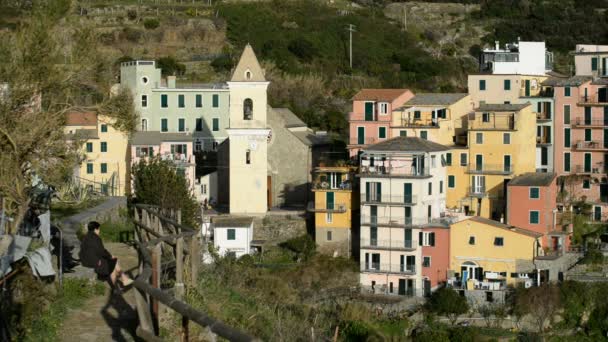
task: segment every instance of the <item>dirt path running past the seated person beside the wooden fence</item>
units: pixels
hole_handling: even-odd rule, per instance
[[[106,243],[106,248],[118,257],[125,270],[137,267],[137,252],[133,247],[121,243]],[[84,270],[70,274],[93,278],[93,273]],[[133,289],[122,295],[112,295],[106,284],[103,296],[89,299],[85,305],[70,310],[59,334],[60,341],[139,341],[135,336],[137,311]]]

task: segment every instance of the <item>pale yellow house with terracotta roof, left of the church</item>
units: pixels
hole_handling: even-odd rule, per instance
[[[127,191],[128,135],[116,130],[113,120],[90,112],[68,113],[64,131],[68,140],[82,142],[82,163],[75,178],[96,192],[124,196]]]

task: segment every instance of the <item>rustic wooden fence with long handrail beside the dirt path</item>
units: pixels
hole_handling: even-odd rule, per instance
[[[139,317],[139,337],[145,341],[162,340],[158,337],[159,313],[164,306],[182,317],[181,341],[188,341],[190,321],[230,341],[256,340],[182,301],[186,287],[196,286],[202,259],[200,231],[182,225],[179,211],[166,212],[147,205],[134,206],[134,222],[139,252],[139,275],[133,282]],[[174,259],[163,264],[163,250],[165,256],[170,255]],[[163,271],[173,268],[174,287],[163,289]],[[185,279],[186,273],[189,273],[188,279]]]

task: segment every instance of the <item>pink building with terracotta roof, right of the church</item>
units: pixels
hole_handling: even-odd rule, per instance
[[[368,145],[391,137],[393,109],[414,97],[408,89],[362,89],[353,97],[353,111],[348,116],[351,157]]]

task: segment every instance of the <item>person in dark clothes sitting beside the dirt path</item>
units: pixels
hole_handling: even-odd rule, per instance
[[[118,259],[103,246],[99,237],[100,227],[97,221],[89,222],[88,233],[80,243],[80,262],[83,266],[94,269],[100,279],[110,276],[112,286],[116,285],[119,276],[123,286],[131,285],[133,279],[122,272]]]

